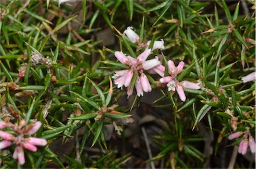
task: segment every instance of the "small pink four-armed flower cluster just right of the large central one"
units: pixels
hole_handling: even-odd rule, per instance
[[[181,98],[181,101],[185,102],[186,95],[183,88],[199,89],[200,84],[192,83],[189,81],[181,81],[181,83],[179,83],[179,81],[177,81],[177,75],[181,73],[185,65],[183,61],[181,61],[177,67],[175,67],[173,61],[168,61],[167,65],[169,70],[168,72],[171,76],[162,77],[161,79],[159,79],[159,82],[167,83],[168,91],[177,91],[179,98]]]

